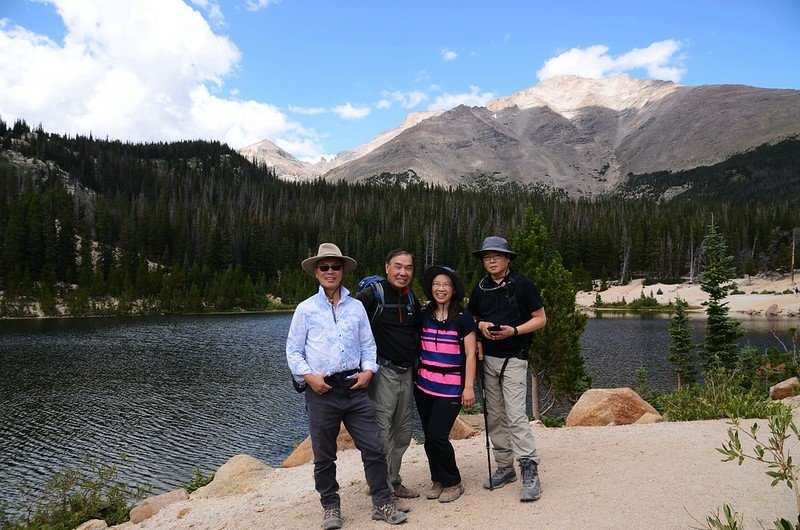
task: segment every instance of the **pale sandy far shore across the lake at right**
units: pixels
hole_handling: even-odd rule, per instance
[[[800,294],[793,292],[783,294],[784,291],[794,291],[795,287],[800,287],[800,273],[795,273],[794,283],[788,274],[774,278],[738,278],[734,281],[738,290],[744,294],[734,294],[727,298],[732,317],[800,318]],[[662,294],[658,294],[659,289]],[[662,304],[674,302],[676,298],[680,297],[689,302],[691,308],[701,313],[704,308],[700,304],[708,300],[708,294],[700,289],[700,284],[666,285],[659,283],[643,286],[642,280],[638,279],[632,280],[628,285],[613,286],[605,291],[579,291],[575,302],[578,307],[589,309],[597,294],[600,294],[604,302],[618,302],[623,297],[627,302],[631,302],[639,298],[643,292],[645,296],[652,294]]]

